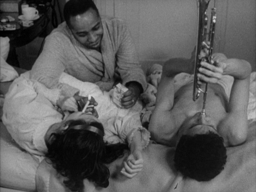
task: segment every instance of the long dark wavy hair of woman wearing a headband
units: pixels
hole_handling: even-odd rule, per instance
[[[72,127],[86,122],[73,120],[68,124]],[[104,133],[101,123],[93,122],[89,125]],[[116,160],[128,149],[124,144],[106,146],[99,134],[84,129],[68,128],[61,133],[52,133],[51,137],[46,154],[51,162],[47,162],[67,178],[63,183],[71,191],[82,191],[85,178],[97,186],[107,187],[110,172],[105,164]]]

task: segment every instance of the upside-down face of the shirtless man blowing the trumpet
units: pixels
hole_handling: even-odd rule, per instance
[[[201,112],[196,113],[194,116],[188,118],[180,127],[178,131],[178,140],[180,140],[182,135],[195,135],[195,134],[206,134],[209,131],[217,133],[217,128],[212,118],[201,114]]]

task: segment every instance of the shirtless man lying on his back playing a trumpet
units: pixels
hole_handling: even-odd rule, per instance
[[[206,114],[201,113],[202,94],[192,99],[193,81],[174,91],[174,76],[192,68],[166,63],[149,123],[153,140],[176,146],[176,169],[197,181],[218,175],[226,163],[225,147],[247,139],[251,65],[223,54],[214,54],[213,61],[201,62],[198,74],[200,81],[208,82]]]

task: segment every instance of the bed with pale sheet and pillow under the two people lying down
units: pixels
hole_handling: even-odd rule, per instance
[[[144,68],[145,71],[148,67]],[[19,74],[25,72],[22,69],[16,69]],[[1,94],[4,95],[11,82],[1,82]],[[250,101],[248,107],[249,117],[249,138],[246,143],[228,148],[228,160],[224,171],[209,182],[196,182],[193,180],[183,179],[181,175],[174,171],[172,161],[168,164],[160,162],[155,163],[155,169],[151,170],[151,174],[158,174],[157,180],[151,178],[148,174],[149,168],[143,169],[140,178],[136,180],[121,179],[119,182],[116,177],[110,178],[110,186],[103,190],[95,189],[95,191],[246,191],[255,192],[256,190],[256,129],[255,129],[255,72],[251,74],[250,84]],[[2,104],[1,104],[2,106]],[[2,114],[2,112],[1,112]],[[11,138],[4,124],[1,122],[0,127],[1,141],[1,170],[0,170],[0,191],[1,192],[24,192],[24,191],[48,191],[53,192],[66,191],[63,187],[61,178],[56,175],[55,170],[49,166],[44,160],[39,162],[26,151],[21,149]],[[162,149],[162,150],[160,150]],[[150,161],[159,162],[165,158],[172,158],[174,148],[151,144],[148,150],[148,158],[145,159],[145,165],[150,165]],[[167,157],[168,155],[168,157]],[[165,157],[165,158],[162,158]],[[110,165],[110,170],[120,166],[122,160]],[[166,164],[166,165],[165,165]],[[152,172],[153,171],[153,172]],[[146,180],[147,178],[148,180]],[[117,182],[116,182],[117,181]],[[147,181],[147,182],[145,182]],[[156,183],[154,187],[148,188],[147,183]],[[132,186],[132,187],[131,187]]]

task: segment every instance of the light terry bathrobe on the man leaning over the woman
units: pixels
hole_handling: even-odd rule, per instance
[[[61,87],[64,96],[73,96],[78,90],[68,85],[58,86],[63,72],[84,82],[95,83],[104,78],[104,82],[107,81],[110,85],[120,77],[123,85],[129,81],[137,81],[144,91],[144,71],[138,62],[134,43],[125,22],[104,17],[102,26],[100,53],[82,46],[76,41],[66,22],[61,23],[46,37],[43,51],[32,67],[31,78],[49,88]]]

